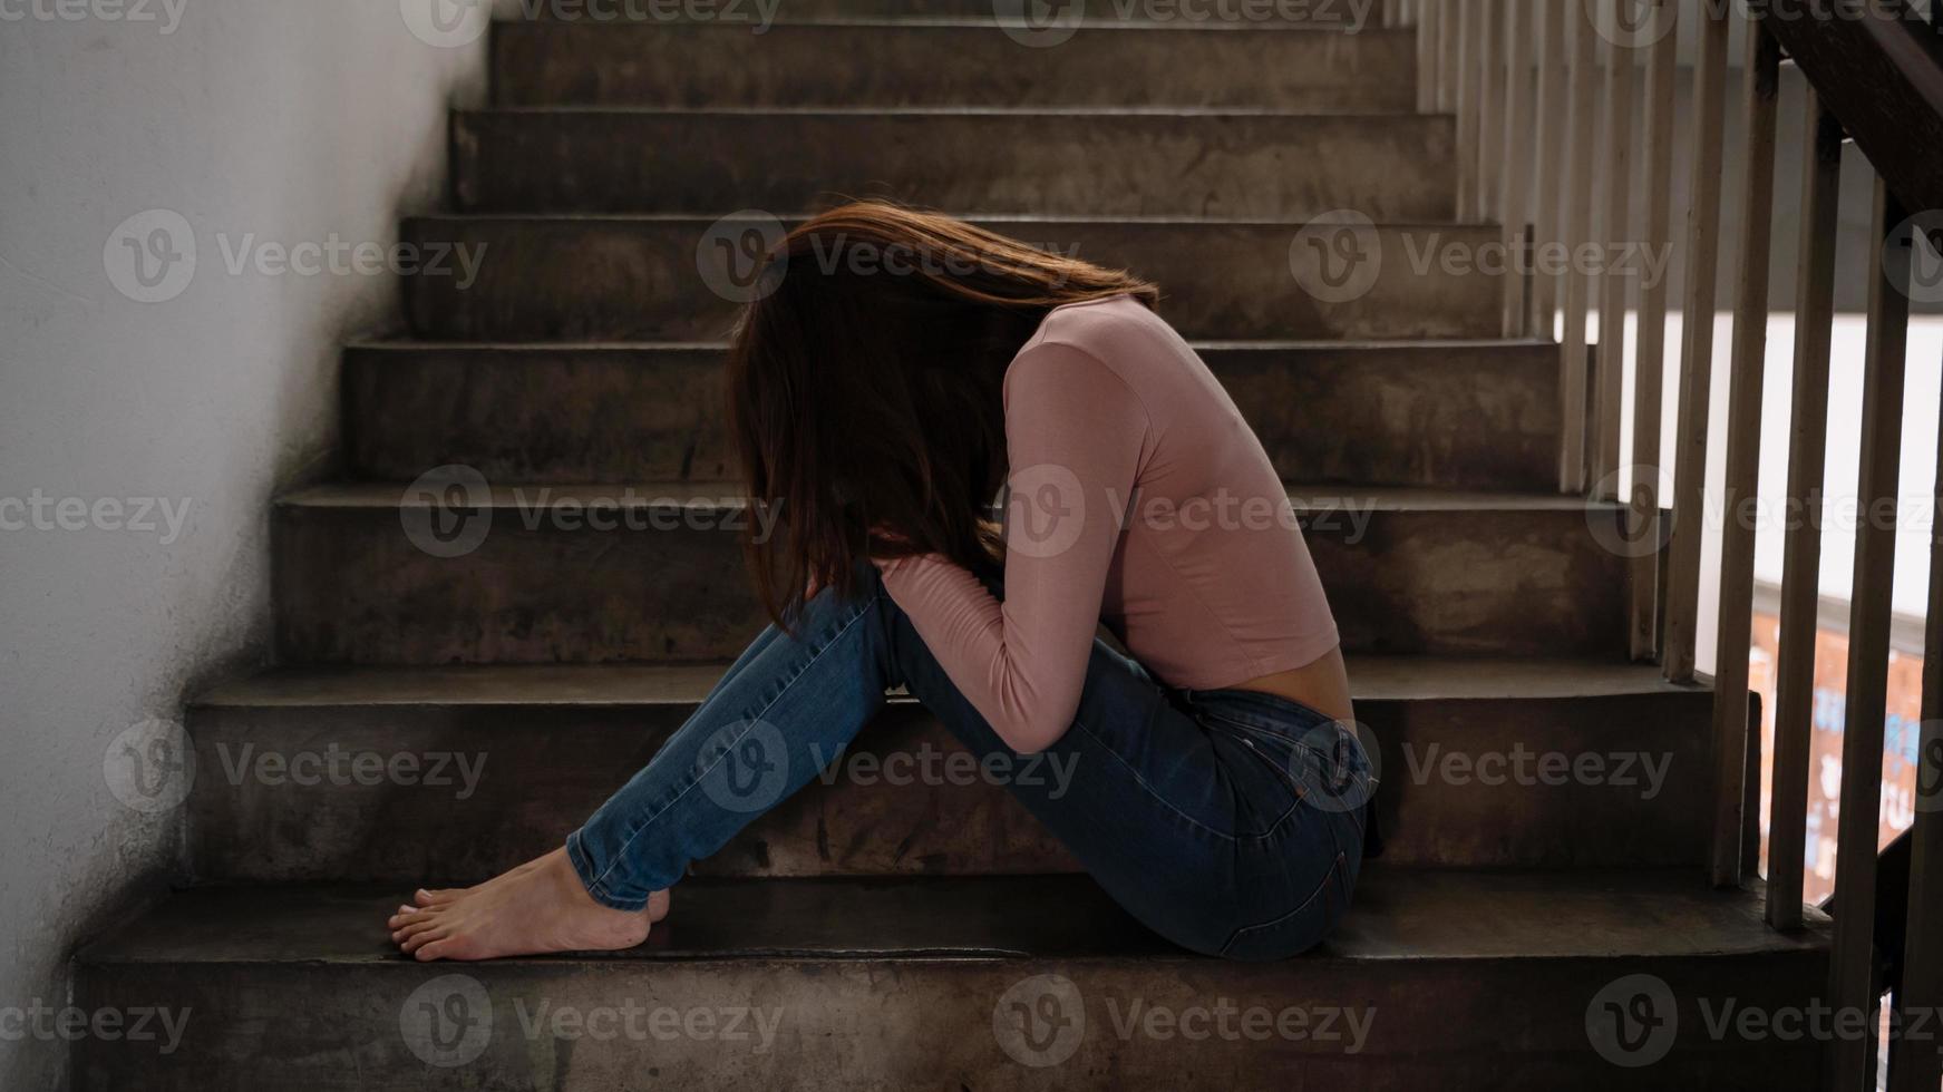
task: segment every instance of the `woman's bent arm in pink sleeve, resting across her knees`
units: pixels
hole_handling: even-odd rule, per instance
[[[938,556],[878,563],[952,684],[1016,752],[1043,750],[1078,711],[1148,431],[1111,367],[1071,346],[1032,346],[1005,377],[1005,602]]]

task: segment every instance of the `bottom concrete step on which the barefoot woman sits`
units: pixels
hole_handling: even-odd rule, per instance
[[[152,1040],[82,1040],[76,1092],[1634,1092],[1819,1076],[1813,1038],[1743,1038],[1718,1014],[1811,1005],[1826,921],[1774,933],[1758,896],[1696,872],[1372,869],[1335,937],[1280,964],[1179,954],[1090,880],[1030,876],[692,880],[633,952],[426,966],[383,935],[404,890],[190,890],[85,948],[82,1010],[161,1010],[181,1038],[165,1051],[150,1020]],[[1619,1028],[1615,1012],[1665,1024]]]

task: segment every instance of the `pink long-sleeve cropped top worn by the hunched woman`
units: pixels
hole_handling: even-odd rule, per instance
[[[1156,678],[1220,690],[1339,643],[1261,441],[1133,297],[1051,311],[1005,373],[1005,600],[964,567],[880,562],[952,684],[1020,752],[1078,711],[1100,622]]]

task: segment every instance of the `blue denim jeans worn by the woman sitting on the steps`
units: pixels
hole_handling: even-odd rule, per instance
[[[567,855],[604,905],[639,909],[837,760],[903,686],[981,764],[1016,758],[958,694],[876,569],[769,628]],[[1277,960],[1348,909],[1374,791],[1362,742],[1296,701],[1158,684],[1102,641],[1073,729],[1008,783],[1133,917],[1183,948]],[[1020,769],[1022,762],[1008,766]],[[981,766],[983,768],[983,766]],[[1030,911],[1030,907],[1022,907]]]

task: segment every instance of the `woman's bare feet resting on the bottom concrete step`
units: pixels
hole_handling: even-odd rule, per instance
[[[666,913],[666,892],[659,894]],[[647,940],[653,921],[651,909],[595,902],[567,851],[556,849],[451,902],[400,905],[389,925],[408,956],[429,962],[633,948]]]

